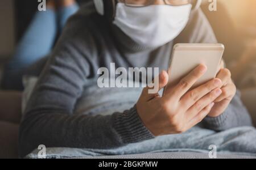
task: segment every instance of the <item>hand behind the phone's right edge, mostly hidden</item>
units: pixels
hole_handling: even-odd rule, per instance
[[[237,91],[236,85],[232,81],[230,71],[224,68],[224,62],[221,63],[220,71],[216,78],[222,81],[222,94],[214,101],[215,104],[208,114],[209,117],[218,117],[224,113]]]

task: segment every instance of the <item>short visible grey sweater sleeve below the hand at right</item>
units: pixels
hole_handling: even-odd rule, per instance
[[[216,131],[223,131],[239,126],[253,126],[250,114],[242,104],[239,91],[237,92],[236,96],[234,96],[224,113],[218,117],[204,118],[203,125],[207,129]]]

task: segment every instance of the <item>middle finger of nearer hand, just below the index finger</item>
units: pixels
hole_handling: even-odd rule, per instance
[[[209,82],[201,85],[200,87],[189,91],[181,98],[180,103],[184,105],[184,108],[188,109],[192,107],[192,105],[195,104],[196,101],[200,100],[203,96],[207,95],[215,88],[220,87],[221,84],[222,82],[220,79],[212,79]]]

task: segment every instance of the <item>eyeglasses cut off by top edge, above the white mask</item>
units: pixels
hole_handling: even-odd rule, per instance
[[[181,6],[192,3],[192,0],[162,0],[166,5]],[[118,2],[125,3],[130,7],[144,7],[154,5],[156,0],[118,0]]]

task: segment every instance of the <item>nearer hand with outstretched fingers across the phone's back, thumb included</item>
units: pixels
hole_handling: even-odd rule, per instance
[[[143,89],[137,102],[137,112],[152,134],[159,136],[183,133],[207,116],[214,105],[213,101],[222,93],[219,88],[221,80],[212,79],[190,90],[206,70],[204,65],[197,66],[175,87],[168,89],[163,97],[159,94],[149,94],[148,87]],[[167,83],[168,74],[162,71],[159,74],[158,90]]]

